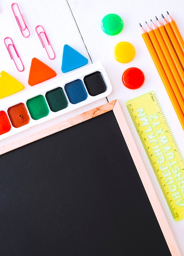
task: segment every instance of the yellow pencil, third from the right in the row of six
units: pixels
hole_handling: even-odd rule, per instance
[[[170,39],[169,39],[169,37],[166,33],[166,30],[165,30],[164,26],[162,26],[161,22],[157,19],[157,17],[156,17],[156,20],[157,20],[157,27],[160,31],[160,34],[162,35],[164,43],[165,43],[165,45],[166,45],[166,47],[167,47],[167,49],[168,49],[168,51],[171,55],[171,58],[173,60],[173,63],[175,64],[177,72],[180,75],[182,83],[184,83],[184,70],[182,68],[182,65],[181,65],[176,53],[175,53],[175,49],[173,48],[173,45],[171,44],[171,41],[170,41]]]

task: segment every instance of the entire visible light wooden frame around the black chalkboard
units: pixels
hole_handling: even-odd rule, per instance
[[[99,115],[102,115],[108,111],[113,110],[113,113],[115,115],[115,118],[117,120],[117,123],[120,127],[120,130],[122,132],[122,135],[126,141],[126,144],[129,148],[129,151],[131,153],[132,159],[135,163],[135,166],[137,168],[137,172],[140,175],[140,178],[142,180],[142,184],[144,186],[144,189],[146,190],[146,193],[148,195],[148,198],[151,202],[151,205],[153,207],[153,211],[155,212],[155,216],[157,217],[157,220],[159,222],[159,225],[162,229],[162,232],[164,234],[164,237],[166,239],[166,243],[168,244],[168,247],[171,251],[172,255],[180,255],[180,250],[177,246],[177,243],[175,241],[174,235],[171,231],[171,228],[169,226],[168,221],[166,220],[164,211],[162,209],[162,206],[160,204],[160,201],[158,200],[157,194],[155,193],[155,190],[153,188],[151,179],[146,171],[146,168],[144,166],[144,162],[142,161],[142,158],[140,156],[140,153],[137,149],[137,146],[135,144],[135,141],[133,139],[133,136],[131,135],[131,131],[129,129],[129,126],[126,122],[126,119],[123,115],[123,112],[120,108],[120,105],[117,100],[105,103],[104,105],[101,105],[97,108],[93,108],[89,111],[86,111],[80,115],[77,115],[75,117],[71,117],[70,119],[67,119],[65,121],[58,122],[58,124],[49,126],[48,128],[44,128],[42,130],[39,130],[39,132],[35,132],[29,136],[22,137],[21,139],[15,139],[11,140],[11,143],[4,144],[0,148],[0,155],[7,153],[11,150],[14,150],[16,148],[19,148],[21,146],[24,146],[26,144],[29,144],[33,141],[36,141],[38,139],[42,139],[43,137],[49,136],[55,132],[59,132],[61,130],[64,130],[66,128],[69,128],[71,126],[74,126],[76,124],[80,124],[86,120],[92,119],[93,117],[97,117]]]

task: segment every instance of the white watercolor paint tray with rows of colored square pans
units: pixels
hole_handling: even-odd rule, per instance
[[[101,63],[94,63],[0,99],[0,139],[102,99],[112,86]]]

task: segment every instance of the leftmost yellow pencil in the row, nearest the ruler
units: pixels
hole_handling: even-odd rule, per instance
[[[157,53],[155,52],[155,49],[151,43],[151,40],[149,38],[148,33],[143,29],[143,27],[140,25],[142,38],[144,39],[144,43],[146,44],[147,49],[149,50],[149,53],[151,55],[151,58],[155,64],[155,67],[160,75],[160,78],[162,80],[162,83],[164,84],[164,87],[166,89],[166,92],[171,100],[171,103],[173,104],[173,108],[175,109],[175,112],[177,114],[178,119],[180,120],[180,123],[182,125],[182,128],[184,129],[184,111],[182,111],[175,94],[173,92],[173,88],[171,87],[170,82],[168,81],[168,78],[164,72],[164,69],[162,67],[162,64],[160,63],[160,60],[157,56]]]

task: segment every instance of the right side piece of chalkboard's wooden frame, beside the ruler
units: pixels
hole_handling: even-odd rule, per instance
[[[182,256],[118,101],[115,103],[113,112],[126,141],[126,145],[129,148],[132,159],[137,168],[137,172],[148,195],[168,248],[173,256]]]

